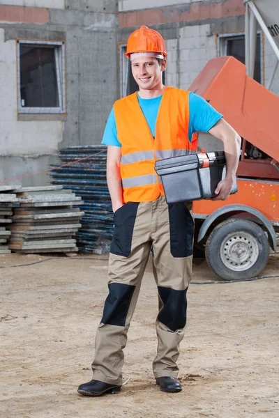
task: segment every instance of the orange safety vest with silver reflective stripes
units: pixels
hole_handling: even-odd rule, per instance
[[[189,92],[166,87],[158,111],[155,139],[137,93],[114,103],[117,137],[121,143],[120,173],[123,202],[149,202],[164,194],[155,162],[193,150],[188,140]],[[193,141],[197,148],[197,141]]]

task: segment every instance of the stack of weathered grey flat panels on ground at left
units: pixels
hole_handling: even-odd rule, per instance
[[[9,248],[23,253],[75,252],[75,233],[84,212],[82,203],[63,186],[23,187],[15,190],[20,207],[15,208]]]

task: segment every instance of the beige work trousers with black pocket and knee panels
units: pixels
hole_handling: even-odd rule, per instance
[[[152,249],[158,286],[158,350],[155,378],[178,376],[176,361],[186,327],[186,293],[192,274],[194,222],[192,205],[156,201],[129,202],[114,213],[109,262],[109,295],[96,333],[93,379],[121,385],[130,320]]]

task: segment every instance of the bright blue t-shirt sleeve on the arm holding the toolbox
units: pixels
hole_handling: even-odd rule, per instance
[[[188,137],[192,140],[194,132],[209,132],[223,115],[206,102],[204,98],[190,91],[189,93],[190,123]]]

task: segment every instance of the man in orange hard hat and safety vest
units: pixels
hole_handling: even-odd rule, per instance
[[[146,26],[133,32],[126,56],[139,91],[114,103],[103,138],[114,235],[93,380],[78,388],[86,396],[120,392],[123,348],[151,249],[160,301],[153,374],[163,392],[181,391],[176,361],[186,327],[194,222],[190,204],[167,205],[154,165],[192,149],[195,132],[210,132],[224,142],[227,174],[214,199],[225,200],[239,160],[241,139],[218,111],[194,93],[163,85],[167,52],[158,32]]]

